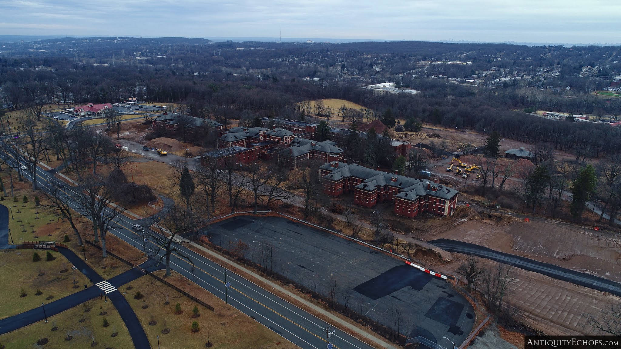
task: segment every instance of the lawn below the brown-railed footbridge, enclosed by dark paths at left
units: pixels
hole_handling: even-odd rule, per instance
[[[32,255],[39,253],[40,261],[33,262]],[[71,264],[59,252],[51,251],[56,258],[47,261],[45,250],[2,250],[0,251],[0,318],[19,314],[33,309],[41,303],[56,301],[83,289],[88,279],[77,270],[71,270]],[[65,273],[60,273],[64,268]],[[39,276],[39,274],[43,274]],[[78,288],[73,288],[73,279],[78,281]],[[24,288],[27,296],[20,297]],[[42,292],[35,295],[37,288]],[[47,300],[46,297],[53,296]]]

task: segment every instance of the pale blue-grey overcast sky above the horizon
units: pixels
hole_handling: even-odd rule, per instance
[[[618,0],[0,0],[0,34],[621,42]]]

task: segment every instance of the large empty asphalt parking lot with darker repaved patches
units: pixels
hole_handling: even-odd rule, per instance
[[[330,280],[337,300],[391,327],[401,313],[400,332],[450,348],[468,337],[474,311],[446,281],[422,273],[403,261],[318,229],[279,217],[233,217],[211,225],[212,243],[235,249],[242,240],[245,257],[264,265],[265,246],[274,246],[271,270],[324,296]]]

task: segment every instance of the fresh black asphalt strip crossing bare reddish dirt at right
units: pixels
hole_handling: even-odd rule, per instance
[[[528,271],[534,271],[550,278],[567,281],[569,283],[596,289],[597,291],[609,292],[621,297],[621,283],[616,283],[609,279],[599,278],[591,274],[580,273],[579,271],[569,270],[558,265],[532,260],[530,258],[511,255],[509,253],[498,252],[491,248],[474,245],[474,243],[461,242],[440,238],[432,240],[430,243],[450,252],[465,253],[489,260],[499,261],[508,265],[515,266]]]

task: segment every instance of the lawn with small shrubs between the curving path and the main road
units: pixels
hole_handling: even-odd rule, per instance
[[[156,274],[163,276],[163,271]],[[199,288],[188,279],[173,273],[168,281],[184,291],[202,299],[207,304],[215,307],[215,312],[196,304],[188,297],[160,283],[151,276],[143,276],[132,281],[133,287],[127,290],[127,285],[122,286],[120,291],[127,292],[125,297],[138,315],[147,337],[152,341],[152,347],[157,346],[156,336],[160,336],[160,348],[201,348],[205,346],[207,337],[214,343],[213,348],[297,348],[296,345],[274,333],[267,327],[250,319],[231,306],[226,306],[223,301],[211,293]],[[134,299],[137,291],[144,294],[141,300]],[[166,295],[170,304],[165,305]],[[182,314],[175,315],[175,304],[181,304]],[[147,309],[142,309],[147,305]],[[200,316],[192,317],[192,309],[197,306]],[[148,323],[155,320],[155,325]],[[191,331],[192,322],[199,323],[199,332]],[[163,329],[170,332],[163,334]],[[279,344],[276,344],[279,343]]]

